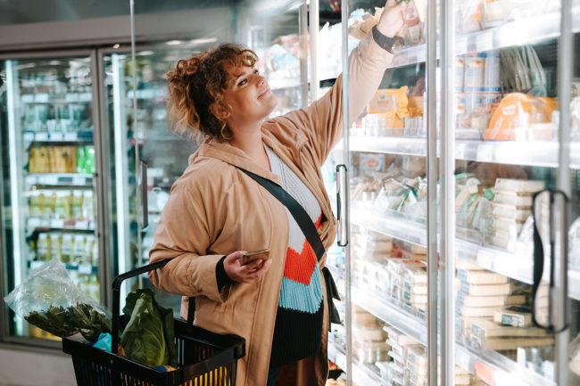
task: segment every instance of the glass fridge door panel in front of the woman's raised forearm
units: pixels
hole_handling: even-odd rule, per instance
[[[371,33],[385,2],[342,4],[343,76],[356,82],[355,74],[345,72],[346,54]],[[428,351],[435,349],[436,355],[436,344],[429,340],[436,336],[436,324],[431,335],[429,321],[436,322],[437,313],[428,311],[429,294],[436,291],[430,282],[435,280],[431,269],[437,267],[429,256],[436,256],[429,210],[436,209],[431,188],[437,178],[435,159],[430,159],[435,152],[427,146],[436,131],[429,126],[427,132],[426,108],[427,80],[435,87],[427,71],[435,73],[435,67],[426,63],[425,2],[410,2],[405,20],[393,62],[372,86],[378,90],[369,95],[369,103],[353,111],[355,97],[344,94],[352,115],[344,144],[348,182],[339,189],[348,197],[339,221],[350,221],[344,232],[339,226],[339,242],[347,244],[347,315],[346,336],[338,330],[334,338],[335,344],[344,342],[336,349],[337,365],[346,366],[348,384],[424,385],[433,368],[427,365]]]

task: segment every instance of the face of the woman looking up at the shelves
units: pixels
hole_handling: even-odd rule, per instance
[[[229,127],[253,124],[266,118],[276,108],[278,100],[269,89],[266,78],[254,67],[243,66],[228,70],[232,80],[224,90]]]

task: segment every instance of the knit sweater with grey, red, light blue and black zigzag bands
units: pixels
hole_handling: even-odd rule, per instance
[[[292,169],[266,147],[272,173],[298,201],[318,229],[322,213],[319,201]],[[286,209],[289,235],[286,265],[280,288],[270,366],[293,363],[315,354],[321,346],[324,312],[322,284],[316,254],[294,217]]]

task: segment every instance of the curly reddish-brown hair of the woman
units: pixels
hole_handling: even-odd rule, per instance
[[[211,112],[211,106],[229,108],[223,95],[232,82],[227,69],[252,67],[257,61],[252,50],[229,43],[180,60],[175,70],[167,73],[171,130],[178,135],[201,133],[220,142],[231,139],[228,125]]]

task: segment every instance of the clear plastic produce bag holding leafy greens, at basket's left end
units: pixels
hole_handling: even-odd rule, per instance
[[[111,333],[111,314],[81,292],[55,259],[31,271],[4,301],[29,324],[61,338],[80,333],[79,339],[94,343]]]

